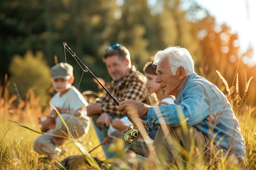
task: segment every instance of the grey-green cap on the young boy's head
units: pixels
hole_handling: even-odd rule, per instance
[[[52,79],[63,78],[70,79],[73,76],[73,67],[67,63],[58,63],[51,69]]]

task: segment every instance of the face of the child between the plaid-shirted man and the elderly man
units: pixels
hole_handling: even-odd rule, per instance
[[[162,86],[155,82],[157,75],[145,73],[145,76],[147,77],[146,88],[150,94],[163,91]]]

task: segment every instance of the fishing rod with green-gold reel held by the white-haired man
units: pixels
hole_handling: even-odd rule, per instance
[[[84,72],[89,71],[89,73],[91,73],[91,75],[94,77],[94,79],[97,80],[97,82],[102,86],[102,88],[106,91],[106,93],[108,93],[108,95],[113,99],[115,104],[117,104],[117,106],[119,106],[120,102],[108,91],[108,89],[99,81],[99,79],[92,73],[92,71],[90,71],[90,69],[72,51],[72,49],[70,49],[70,47],[67,45],[67,43],[63,42],[63,46],[64,46],[64,49],[66,49],[72,55],[72,57],[74,57],[74,59],[79,64],[79,66],[83,69],[83,71]],[[83,68],[83,66],[81,66],[81,64],[79,62],[85,67],[85,69]],[[141,135],[140,134],[141,130],[145,130],[147,135],[150,134],[150,132],[146,126],[144,126],[144,128],[138,127],[135,120],[133,120],[131,117],[128,117],[128,119],[130,122],[132,122],[132,124],[136,127],[137,130],[133,129],[132,127],[129,126],[131,128],[131,130],[128,130],[128,128],[129,128],[128,127],[126,130],[121,131],[121,134],[124,135],[124,141],[126,142],[126,144],[131,145],[132,142],[137,141],[137,139],[139,138],[139,135]],[[124,134],[123,132],[126,132],[126,133]]]

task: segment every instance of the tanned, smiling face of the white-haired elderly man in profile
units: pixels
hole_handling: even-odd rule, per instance
[[[155,79],[156,83],[160,83],[165,95],[177,95],[180,92],[180,84],[182,81],[179,79],[179,70],[177,69],[176,74],[171,73],[171,68],[169,66],[168,57],[164,57],[159,60],[157,64],[157,77]]]

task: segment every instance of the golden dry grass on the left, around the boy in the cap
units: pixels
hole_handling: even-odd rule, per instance
[[[17,95],[9,93],[8,86],[8,83],[5,88],[0,86],[0,170],[52,170],[66,157],[82,155],[81,149],[89,152],[99,146],[91,124],[85,137],[75,142],[72,139],[65,141],[60,148],[64,147],[67,152],[56,161],[44,160],[42,155],[34,151],[33,143],[41,135],[38,117],[49,115],[49,106],[42,107],[41,99],[34,95],[33,89],[29,89],[25,99],[20,102]],[[105,160],[101,147],[90,155]]]

